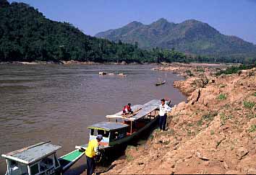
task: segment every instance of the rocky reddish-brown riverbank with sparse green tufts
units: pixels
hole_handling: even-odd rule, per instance
[[[166,65],[187,94],[145,145],[129,147],[104,174],[256,174],[256,68],[216,76],[223,65]]]

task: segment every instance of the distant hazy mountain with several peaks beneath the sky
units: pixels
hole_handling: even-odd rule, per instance
[[[148,25],[131,22],[116,30],[99,32],[95,37],[114,42],[137,42],[143,49],[175,48],[184,53],[200,55],[247,57],[256,53],[256,45],[239,37],[223,35],[209,24],[195,19],[179,24],[163,18]]]

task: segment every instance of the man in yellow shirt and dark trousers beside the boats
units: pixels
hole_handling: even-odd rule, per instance
[[[94,174],[95,171],[95,156],[99,154],[98,143],[103,139],[102,135],[98,135],[96,139],[90,140],[88,148],[86,148],[85,156],[87,163],[87,175]]]

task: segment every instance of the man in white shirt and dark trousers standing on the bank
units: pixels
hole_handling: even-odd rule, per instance
[[[166,130],[166,118],[167,112],[171,112],[171,107],[166,104],[165,99],[161,99],[161,104],[159,106],[159,127],[160,130]]]

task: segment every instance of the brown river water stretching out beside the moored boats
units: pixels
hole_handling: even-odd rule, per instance
[[[128,102],[144,104],[169,97],[172,104],[186,97],[174,89],[176,74],[152,71],[155,65],[0,65],[0,154],[51,140],[62,148],[58,156],[88,143],[87,125],[105,120]],[[125,73],[99,76],[99,71]],[[166,80],[155,86],[158,78]],[[66,174],[85,169],[81,158]],[[0,174],[6,171],[0,159]]]

